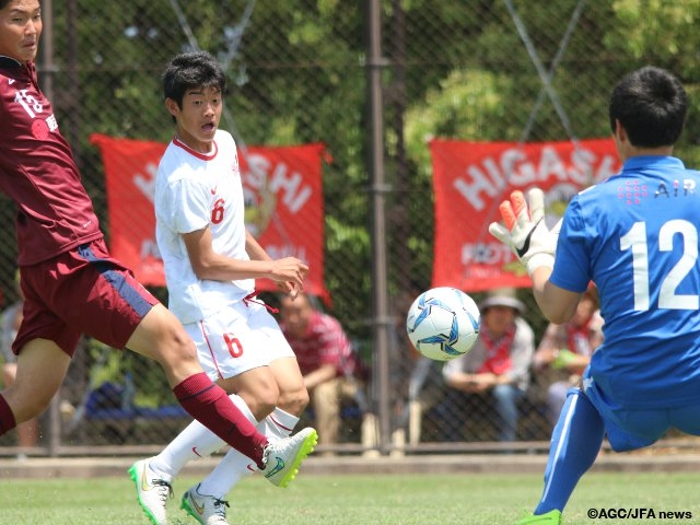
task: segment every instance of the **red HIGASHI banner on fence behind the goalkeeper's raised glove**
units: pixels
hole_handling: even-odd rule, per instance
[[[433,287],[467,292],[529,287],[525,268],[493,238],[489,224],[512,190],[545,190],[553,225],[581,189],[617,173],[612,139],[579,142],[430,142],[435,192]]]

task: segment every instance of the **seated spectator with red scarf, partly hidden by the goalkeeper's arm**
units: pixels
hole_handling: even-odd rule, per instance
[[[562,325],[549,324],[533,360],[537,383],[547,388],[547,419],[552,428],[567,400],[567,390],[579,384],[591,355],[602,342],[598,293],[591,285],[571,320]]]

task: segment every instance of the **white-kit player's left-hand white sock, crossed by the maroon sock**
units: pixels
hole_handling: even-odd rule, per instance
[[[248,421],[255,425],[258,424],[243,398],[236,394],[231,394],[229,397]],[[159,478],[172,483],[187,462],[210,456],[224,445],[225,442],[207,427],[199,421],[192,421],[151,459],[149,467]]]

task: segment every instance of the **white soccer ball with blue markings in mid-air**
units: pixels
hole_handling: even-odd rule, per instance
[[[416,350],[435,361],[464,355],[479,337],[481,314],[474,300],[456,288],[421,293],[406,317],[408,338]]]

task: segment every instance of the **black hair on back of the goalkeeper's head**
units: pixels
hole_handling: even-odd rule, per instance
[[[625,77],[612,90],[608,115],[615,132],[619,120],[638,148],[673,145],[682,131],[688,95],[668,71],[652,66]]]

